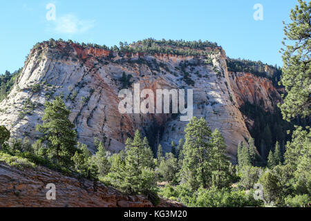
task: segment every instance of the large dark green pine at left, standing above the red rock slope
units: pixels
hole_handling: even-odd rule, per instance
[[[46,102],[43,123],[37,125],[37,131],[44,134],[43,140],[48,143],[48,155],[52,160],[70,165],[75,154],[75,126],[68,119],[70,111],[62,98],[55,97],[54,102]]]

